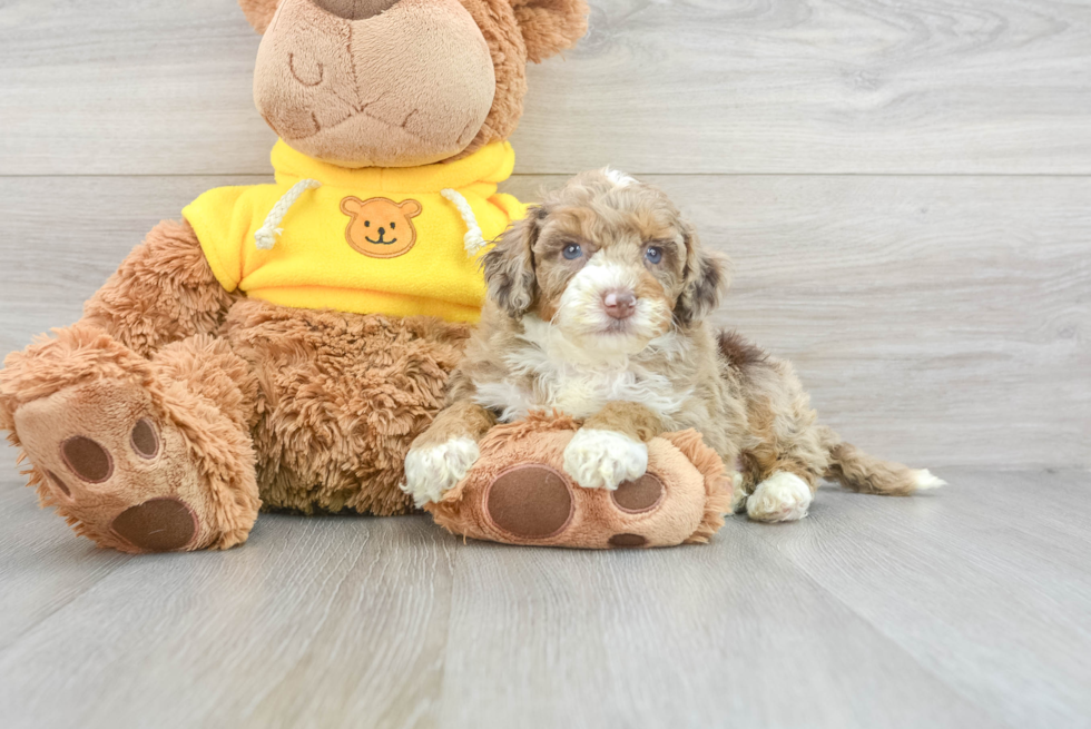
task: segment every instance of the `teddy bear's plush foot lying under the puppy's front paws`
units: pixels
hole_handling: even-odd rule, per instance
[[[706,542],[723,525],[730,481],[697,433],[653,439],[647,473],[607,491],[566,473],[576,430],[570,418],[544,415],[493,428],[466,477],[425,509],[456,534],[580,549]]]

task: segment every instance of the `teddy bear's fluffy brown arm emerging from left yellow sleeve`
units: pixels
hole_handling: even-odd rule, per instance
[[[81,324],[150,356],[171,342],[216,333],[237,298],[216,279],[189,223],[165,220],[83,305]]]

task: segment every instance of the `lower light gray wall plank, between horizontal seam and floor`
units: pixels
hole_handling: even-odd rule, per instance
[[[202,190],[263,179],[0,178],[0,354],[78,318]],[[714,323],[795,362],[846,439],[928,466],[1091,465],[1091,179],[651,179],[735,260]]]

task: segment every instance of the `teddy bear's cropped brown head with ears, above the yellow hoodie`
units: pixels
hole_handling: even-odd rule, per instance
[[[507,139],[527,61],[570,48],[584,0],[239,0],[264,33],[254,101],[294,149],[343,167],[458,159]]]

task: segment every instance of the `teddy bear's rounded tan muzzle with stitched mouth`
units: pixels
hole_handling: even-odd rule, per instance
[[[484,36],[456,0],[284,0],[258,49],[254,100],[305,155],[409,167],[465,150],[495,86]]]

